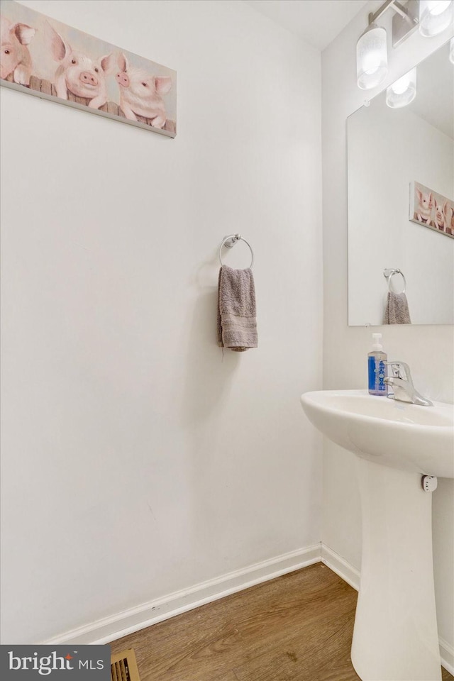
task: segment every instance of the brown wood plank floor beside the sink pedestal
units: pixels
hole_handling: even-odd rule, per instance
[[[358,681],[357,595],[317,563],[119,638],[111,650],[134,648],[140,681]]]

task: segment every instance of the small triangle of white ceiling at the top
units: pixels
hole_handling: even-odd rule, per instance
[[[258,12],[324,50],[368,0],[244,0]]]

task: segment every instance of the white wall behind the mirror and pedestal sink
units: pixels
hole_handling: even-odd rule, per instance
[[[350,22],[322,53],[323,139],[323,282],[324,341],[323,386],[366,387],[366,355],[372,328],[347,324],[347,160],[345,121],[358,109],[365,94],[356,86],[355,44],[367,26],[367,14],[380,1],[371,2]],[[423,39],[414,34],[392,51],[387,84],[408,71],[414,63],[445,43],[452,31]],[[431,399],[453,402],[453,326],[382,327],[384,349],[389,358],[409,363],[414,383]],[[453,517],[450,507],[453,481],[445,480],[433,495],[434,559],[439,633],[453,646]],[[323,455],[323,542],[355,567],[361,561],[360,500],[353,455],[325,443]],[[442,538],[443,537],[443,538]]]

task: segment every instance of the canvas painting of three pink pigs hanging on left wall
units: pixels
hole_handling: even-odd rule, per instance
[[[0,20],[1,85],[175,137],[175,71],[14,0]]]

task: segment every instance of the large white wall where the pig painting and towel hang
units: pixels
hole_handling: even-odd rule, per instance
[[[178,135],[2,89],[4,643],[320,540],[319,52],[230,0],[23,4],[177,70]]]

